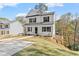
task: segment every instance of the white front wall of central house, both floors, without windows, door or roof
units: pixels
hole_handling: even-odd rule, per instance
[[[43,22],[43,17],[49,16],[49,22],[46,22],[46,25],[43,24],[35,24],[35,25],[26,25],[26,34],[32,34],[35,35],[35,27],[38,27],[38,35],[42,35],[42,36],[55,36],[55,20],[54,20],[54,15],[43,15],[43,16],[35,16],[35,17],[28,17],[26,18],[26,24],[29,24],[29,19],[30,18],[36,18],[36,23],[45,23]],[[52,24],[48,24],[51,23]],[[42,27],[51,27],[51,32],[42,32]],[[32,27],[32,32],[28,32],[27,31],[27,27]]]

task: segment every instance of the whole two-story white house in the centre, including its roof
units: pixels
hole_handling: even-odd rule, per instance
[[[27,35],[55,36],[54,12],[32,9],[24,21]]]

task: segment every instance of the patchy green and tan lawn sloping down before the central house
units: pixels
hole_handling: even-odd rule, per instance
[[[71,51],[63,45],[57,44],[48,37],[31,37],[24,39],[34,42],[32,46],[24,48],[13,56],[72,56],[79,55],[79,52]]]

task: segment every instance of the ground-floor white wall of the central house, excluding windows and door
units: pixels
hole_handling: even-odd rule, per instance
[[[32,32],[28,32],[27,28],[28,27],[32,27]],[[42,35],[42,36],[52,36],[53,34],[53,26],[52,25],[27,25],[26,26],[26,34],[32,34],[35,35],[35,27],[38,28],[38,35]],[[42,32],[42,27],[51,27],[51,32]],[[54,34],[53,34],[54,35]]]

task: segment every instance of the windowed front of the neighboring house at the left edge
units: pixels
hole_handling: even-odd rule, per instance
[[[10,21],[6,18],[0,18],[0,35],[9,34],[9,23]]]

